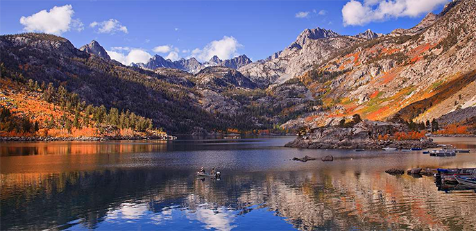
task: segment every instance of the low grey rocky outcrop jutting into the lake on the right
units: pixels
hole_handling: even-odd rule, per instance
[[[380,121],[362,121],[350,128],[329,126],[316,128],[312,132],[297,137],[294,141],[284,145],[290,148],[434,148],[433,139],[421,138],[416,140],[382,140],[379,137],[393,135],[395,132],[405,130],[399,123],[386,123]]]

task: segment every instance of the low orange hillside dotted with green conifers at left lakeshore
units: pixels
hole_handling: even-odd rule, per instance
[[[167,137],[151,119],[87,105],[64,87],[24,81],[21,75],[1,71],[0,137]]]

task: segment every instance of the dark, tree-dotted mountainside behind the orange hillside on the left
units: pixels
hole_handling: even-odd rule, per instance
[[[21,75],[23,82],[65,87],[80,101],[130,110],[167,132],[266,130],[289,118],[287,112],[251,105],[246,97],[262,95],[255,92],[264,89],[235,69],[208,67],[196,75],[167,68],[150,71],[99,57],[101,52],[96,51],[103,48],[97,42],[84,47],[89,48],[79,51],[55,35],[3,35],[0,63]],[[273,96],[266,99],[275,101]]]

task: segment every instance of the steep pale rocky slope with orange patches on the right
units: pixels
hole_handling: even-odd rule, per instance
[[[355,42],[316,63],[298,79],[321,99],[321,112],[284,127],[322,126],[352,114],[431,121],[474,106],[475,10],[475,1],[452,1],[414,28]]]

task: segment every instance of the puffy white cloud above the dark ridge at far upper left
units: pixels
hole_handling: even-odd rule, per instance
[[[41,10],[28,17],[22,16],[20,24],[24,26],[24,31],[54,35],[61,35],[71,28],[76,31],[83,31],[84,24],[79,19],[73,19],[73,15],[74,10],[71,5],[55,6],[49,11]]]

